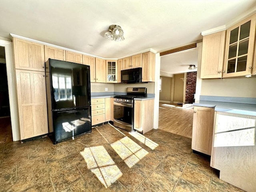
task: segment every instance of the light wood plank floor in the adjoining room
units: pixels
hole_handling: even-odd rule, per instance
[[[174,107],[163,106],[163,104]],[[193,112],[191,109],[181,109],[182,105],[159,102],[158,129],[192,138]]]

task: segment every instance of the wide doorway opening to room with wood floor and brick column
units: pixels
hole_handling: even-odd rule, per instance
[[[189,67],[200,66],[200,48],[161,56],[158,129],[192,138],[197,68]]]

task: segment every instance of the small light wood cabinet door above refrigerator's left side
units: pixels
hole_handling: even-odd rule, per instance
[[[63,49],[56,47],[51,47],[48,45],[44,46],[44,59],[45,62],[49,59],[56,59],[61,61],[66,61],[66,52]]]

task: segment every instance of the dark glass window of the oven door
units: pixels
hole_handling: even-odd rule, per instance
[[[131,107],[119,106],[114,104],[114,119],[132,124],[132,109]]]

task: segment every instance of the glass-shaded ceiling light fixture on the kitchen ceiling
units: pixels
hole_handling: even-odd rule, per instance
[[[124,40],[124,32],[120,26],[110,25],[108,31],[104,34],[104,38],[111,41],[122,41]]]

